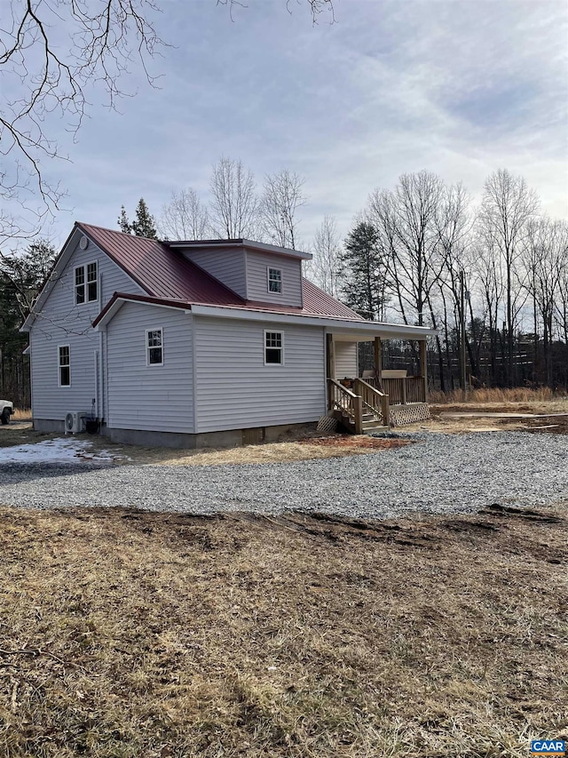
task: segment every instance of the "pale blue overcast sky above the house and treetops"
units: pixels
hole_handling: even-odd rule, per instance
[[[140,196],[154,215],[172,189],[206,199],[221,155],[259,183],[304,177],[304,243],[325,214],[345,235],[373,189],[422,169],[478,200],[508,168],[568,217],[566,0],[335,0],[335,23],[316,26],[305,0],[248,0],[233,20],[215,0],[157,4],[172,45],[151,64],[160,89],[138,71],[120,113],[90,93],[73,163],[51,164],[70,209],[55,243],[75,219],[116,227]]]

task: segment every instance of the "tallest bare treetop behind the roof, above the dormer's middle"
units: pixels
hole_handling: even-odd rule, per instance
[[[222,156],[213,166],[209,221],[220,239],[254,237],[258,227],[255,178],[241,159]]]

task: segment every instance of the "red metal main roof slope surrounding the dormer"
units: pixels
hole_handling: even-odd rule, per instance
[[[319,315],[365,321],[351,308],[303,280],[304,307],[245,301],[168,243],[77,223],[85,235],[114,260],[153,299],[186,304],[233,306],[298,315]]]

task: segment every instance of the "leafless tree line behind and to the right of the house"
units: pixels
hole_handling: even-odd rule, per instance
[[[540,212],[538,195],[506,169],[486,180],[478,207],[461,183],[422,171],[377,188],[341,241],[326,216],[311,240],[299,234],[304,179],[282,169],[260,190],[241,161],[222,157],[210,201],[173,192],[154,218],[141,198],[122,231],[162,239],[248,237],[313,254],[306,275],[365,318],[432,326],[435,386],[568,387],[568,226]],[[417,360],[391,343],[391,362]],[[370,367],[367,348],[361,361]],[[393,363],[393,364],[394,364]]]

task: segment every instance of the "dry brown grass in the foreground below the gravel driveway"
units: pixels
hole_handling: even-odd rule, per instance
[[[568,724],[566,508],[0,510],[0,756],[525,756]]]

